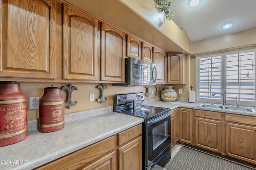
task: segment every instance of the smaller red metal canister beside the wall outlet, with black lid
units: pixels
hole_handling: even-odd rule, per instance
[[[64,98],[60,88],[44,88],[44,95],[39,100],[39,128],[40,132],[58,131],[64,127]]]

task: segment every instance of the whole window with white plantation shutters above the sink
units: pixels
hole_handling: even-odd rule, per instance
[[[255,49],[241,49],[196,56],[196,99],[227,104],[255,105]]]

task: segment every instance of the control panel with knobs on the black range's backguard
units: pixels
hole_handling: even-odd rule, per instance
[[[113,107],[128,104],[135,101],[144,101],[144,95],[142,92],[130,94],[116,94],[114,97]]]

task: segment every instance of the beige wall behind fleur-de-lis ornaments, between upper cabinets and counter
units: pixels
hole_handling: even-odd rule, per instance
[[[158,88],[159,95],[156,96],[155,94],[151,94],[150,96],[146,96],[146,88],[141,86],[136,87],[117,87],[112,86],[112,84],[104,84],[107,85],[108,88],[104,89],[104,97],[107,98],[106,102],[100,103],[97,102],[96,98],[100,97],[100,90],[97,88],[100,83],[72,83],[72,86],[76,86],[78,90],[74,90],[72,92],[72,100],[78,101],[76,106],[71,106],[70,109],[65,107],[65,113],[72,113],[76,111],[82,111],[82,110],[88,110],[88,109],[94,109],[98,107],[106,107],[106,106],[112,106],[114,95],[115,94],[125,94],[125,93],[134,93],[134,92],[143,92],[145,100],[148,99],[154,99],[160,97],[160,92],[162,91],[162,88],[164,85],[160,85],[160,88]],[[63,86],[68,86],[66,83],[36,83],[36,82],[20,82],[20,88],[24,94],[26,94],[28,101],[29,97],[36,97],[39,96],[41,98],[44,94],[44,88],[51,87],[53,85],[54,87],[62,88]],[[156,92],[155,86],[150,87],[150,93],[154,90],[154,93]],[[90,102],[90,94],[94,93],[95,96],[95,102]],[[61,90],[61,95],[64,97],[64,100],[66,100],[66,92]],[[29,102],[28,102],[29,106]],[[36,119],[39,118],[39,109],[32,109],[29,110],[28,108],[28,120],[30,119]]]

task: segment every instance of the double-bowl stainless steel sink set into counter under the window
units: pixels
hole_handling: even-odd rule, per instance
[[[256,113],[256,110],[253,107],[242,107],[242,106],[229,106],[229,105],[221,105],[221,104],[208,104],[201,103],[198,107],[208,107],[208,108],[216,108],[216,109],[228,109],[228,110],[236,110],[236,111],[248,111]]]

